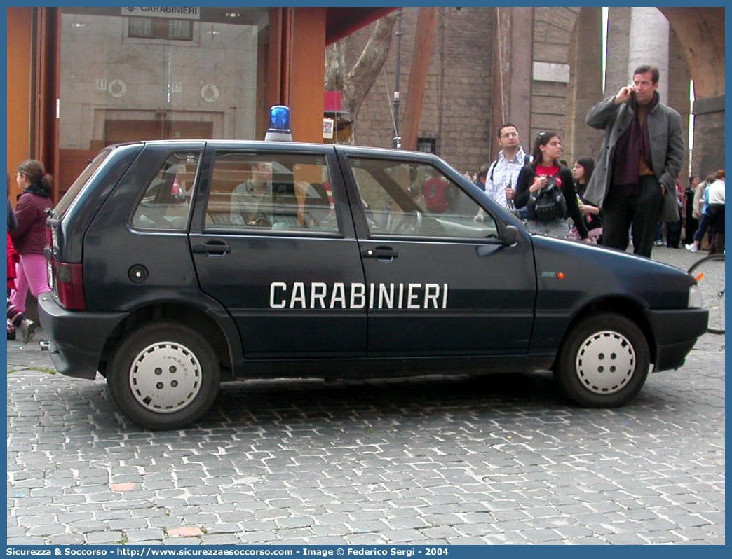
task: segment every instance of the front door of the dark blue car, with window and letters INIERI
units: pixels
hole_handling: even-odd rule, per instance
[[[370,289],[367,354],[526,353],[537,289],[528,236],[501,242],[482,195],[437,158],[340,154]]]

